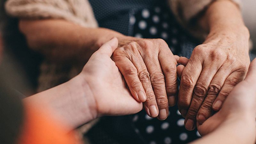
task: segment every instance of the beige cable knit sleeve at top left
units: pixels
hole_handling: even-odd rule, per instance
[[[18,18],[64,19],[84,27],[98,26],[86,0],[8,0],[5,10]]]

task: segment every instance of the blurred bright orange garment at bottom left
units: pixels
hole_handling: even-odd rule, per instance
[[[69,132],[61,124],[52,120],[47,113],[33,106],[25,106],[25,116],[17,141],[18,144],[74,144],[80,143],[74,132]]]

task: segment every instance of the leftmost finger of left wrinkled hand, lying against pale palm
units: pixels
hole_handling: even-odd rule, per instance
[[[139,102],[146,101],[146,93],[138,78],[137,69],[127,57],[115,57],[116,66],[123,74],[133,98]]]

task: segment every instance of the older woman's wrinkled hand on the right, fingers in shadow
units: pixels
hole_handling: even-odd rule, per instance
[[[217,36],[216,36],[217,35]],[[221,34],[220,34],[221,35]],[[233,87],[244,79],[250,59],[248,38],[214,34],[198,45],[181,76],[178,107],[193,130],[218,111]]]

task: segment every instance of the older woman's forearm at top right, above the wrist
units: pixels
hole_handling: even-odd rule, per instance
[[[238,6],[230,0],[216,0],[206,10],[200,19],[201,26],[209,31],[209,36],[236,36],[238,33],[248,41],[249,32],[244,26]]]

